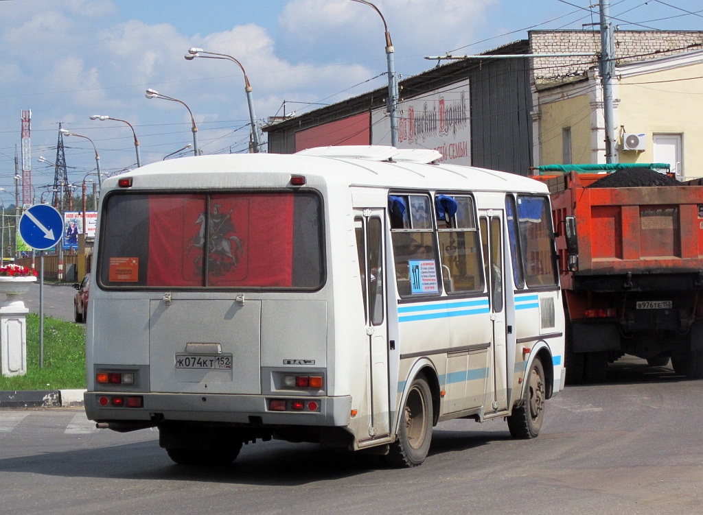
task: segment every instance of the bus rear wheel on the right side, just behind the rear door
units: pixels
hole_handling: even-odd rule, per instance
[[[417,467],[425,461],[432,440],[432,392],[425,377],[418,376],[411,384],[400,416],[398,438],[385,459],[392,467]]]

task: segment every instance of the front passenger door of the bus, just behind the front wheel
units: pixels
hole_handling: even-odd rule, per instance
[[[491,301],[493,324],[493,391],[486,389],[484,412],[491,413],[508,408],[508,356],[505,348],[505,274],[503,269],[503,211],[479,211],[481,242],[484,251],[486,282]],[[512,376],[510,376],[512,379]]]

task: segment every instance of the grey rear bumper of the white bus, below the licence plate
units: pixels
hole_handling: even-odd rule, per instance
[[[143,398],[143,408],[112,405],[115,397],[135,396]],[[108,405],[103,405],[105,399]],[[271,410],[271,400],[284,400],[286,410]],[[302,401],[303,409],[293,410],[293,401]],[[310,409],[315,408],[311,402],[316,404],[315,410]],[[84,404],[86,415],[91,420],[108,424],[117,422],[116,426],[125,423],[129,426],[129,422],[134,422],[135,426],[141,426],[135,429],[167,421],[222,422],[245,426],[348,426],[352,412],[351,396],[298,399],[233,394],[89,391],[84,393]],[[154,423],[145,425],[147,421]]]

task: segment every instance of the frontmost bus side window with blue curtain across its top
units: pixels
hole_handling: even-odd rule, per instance
[[[547,197],[518,195],[517,220],[527,286],[557,285],[554,231]]]

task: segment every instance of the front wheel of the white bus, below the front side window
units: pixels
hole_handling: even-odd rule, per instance
[[[512,438],[535,438],[539,434],[544,419],[546,388],[542,362],[536,358],[527,374],[522,399],[512,408],[508,416],[508,429]]]

